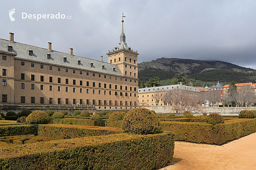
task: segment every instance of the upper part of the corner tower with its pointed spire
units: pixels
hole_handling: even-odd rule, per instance
[[[127,77],[138,78],[138,53],[127,46],[125,42],[124,20],[122,20],[122,32],[120,42],[112,51],[108,51],[108,63],[116,64],[121,73]]]

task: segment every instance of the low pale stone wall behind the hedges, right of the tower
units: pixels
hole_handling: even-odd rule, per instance
[[[158,115],[168,115],[170,113],[178,113],[173,106],[138,106],[138,108],[147,108],[149,110],[154,110]],[[199,107],[200,113],[219,113],[221,115],[238,115],[242,110],[256,110],[256,107],[251,108],[237,108],[237,107]]]

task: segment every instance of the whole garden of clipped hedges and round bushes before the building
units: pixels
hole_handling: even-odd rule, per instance
[[[145,108],[1,114],[0,169],[159,169],[171,163],[175,141],[225,144],[256,132],[255,114],[156,116]]]

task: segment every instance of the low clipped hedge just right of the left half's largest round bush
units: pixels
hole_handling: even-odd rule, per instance
[[[89,119],[53,119],[55,124],[71,124],[71,125],[87,125],[87,126],[105,126],[105,120],[89,120]]]

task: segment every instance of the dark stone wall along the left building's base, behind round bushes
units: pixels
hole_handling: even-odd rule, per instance
[[[84,111],[87,110],[89,113],[96,114],[96,108],[94,106],[35,106],[35,105],[0,105],[0,112],[6,115],[9,111],[14,111],[19,113],[24,109],[29,109],[31,111],[48,111],[52,110],[54,112],[67,111],[67,113],[73,113],[76,110]]]

